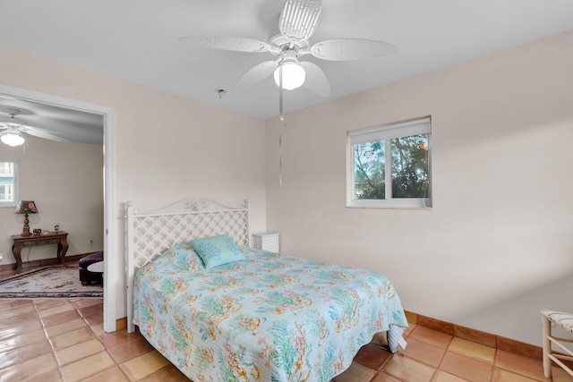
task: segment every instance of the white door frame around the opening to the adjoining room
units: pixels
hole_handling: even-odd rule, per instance
[[[90,102],[73,98],[64,98],[47,93],[40,93],[30,89],[15,88],[0,83],[0,94],[8,97],[19,98],[26,101],[58,106],[68,109],[85,111],[87,113],[103,115],[104,118],[104,253],[108,259],[115,253],[116,222],[114,217],[115,206],[115,109],[109,106],[101,106]],[[116,330],[116,286],[118,275],[115,275],[117,267],[114,260],[106,261],[104,269],[104,331],[115,332]]]

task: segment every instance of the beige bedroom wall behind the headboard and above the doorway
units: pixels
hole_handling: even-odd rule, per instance
[[[252,230],[264,230],[264,121],[10,47],[0,47],[0,56],[0,83],[6,86],[115,111],[115,184],[111,186],[117,229],[109,234],[115,235],[116,248],[106,259],[121,276],[107,284],[107,293],[115,293],[118,318],[126,315],[126,201],[133,200],[144,211],[186,197],[210,197],[231,205],[249,198]]]

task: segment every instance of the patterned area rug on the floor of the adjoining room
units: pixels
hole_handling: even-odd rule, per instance
[[[82,285],[77,267],[44,267],[0,281],[0,298],[103,297],[102,284]]]

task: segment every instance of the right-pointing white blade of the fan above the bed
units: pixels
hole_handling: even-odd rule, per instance
[[[362,38],[335,38],[318,42],[311,54],[329,61],[350,61],[391,55],[397,47],[383,41]]]

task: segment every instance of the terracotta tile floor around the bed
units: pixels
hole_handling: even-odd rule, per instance
[[[105,333],[102,320],[102,299],[0,299],[0,381],[188,381],[141,335]],[[412,325],[405,336],[406,351],[397,354],[365,345],[333,381],[550,380],[541,361],[426,327]],[[573,381],[553,370],[553,381]]]

